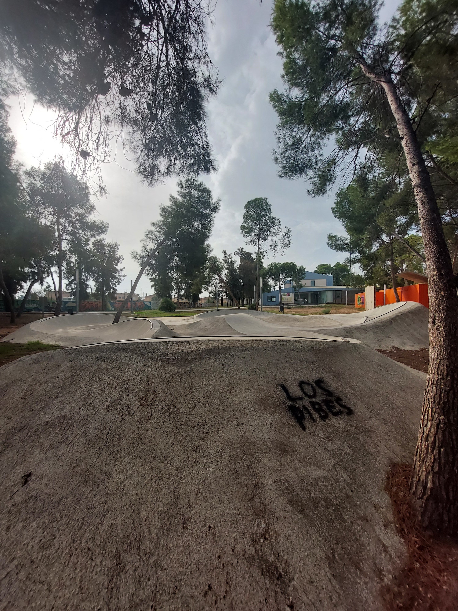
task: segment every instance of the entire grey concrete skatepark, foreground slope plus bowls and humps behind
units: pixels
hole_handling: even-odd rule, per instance
[[[5,338],[68,347],[0,370],[0,609],[382,609],[427,309],[112,320]]]

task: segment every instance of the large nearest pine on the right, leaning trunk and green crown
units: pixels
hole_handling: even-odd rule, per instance
[[[458,296],[421,125],[432,105],[456,100],[456,0],[405,0],[390,27],[376,0],[275,0],[272,27],[288,90],[271,101],[280,117],[275,159],[283,176],[323,193],[396,140],[412,181],[429,279],[430,359],[413,464],[412,494],[426,529],[458,532]],[[424,86],[416,59],[435,56]],[[449,58],[453,58],[450,78]],[[442,84],[444,86],[442,87]],[[329,147],[334,141],[336,147]],[[330,150],[330,152],[329,152]]]

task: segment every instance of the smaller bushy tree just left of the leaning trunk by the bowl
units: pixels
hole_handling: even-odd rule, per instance
[[[119,244],[107,242],[104,238],[92,241],[90,254],[92,255],[92,279],[94,292],[102,300],[102,310],[106,309],[106,298],[115,299],[116,289],[125,275],[120,269],[122,257],[119,254]]]

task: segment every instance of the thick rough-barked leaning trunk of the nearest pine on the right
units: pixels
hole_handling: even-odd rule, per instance
[[[364,70],[364,67],[363,67]],[[398,126],[423,236],[429,295],[429,368],[412,496],[426,530],[458,533],[458,296],[431,178],[410,117],[391,78],[368,74],[385,90]]]

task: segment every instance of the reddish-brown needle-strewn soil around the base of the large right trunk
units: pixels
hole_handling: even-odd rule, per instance
[[[385,608],[454,611],[458,596],[458,541],[433,538],[418,527],[410,500],[411,472],[409,464],[393,464],[387,477],[385,489],[409,556],[391,584],[382,588]]]

